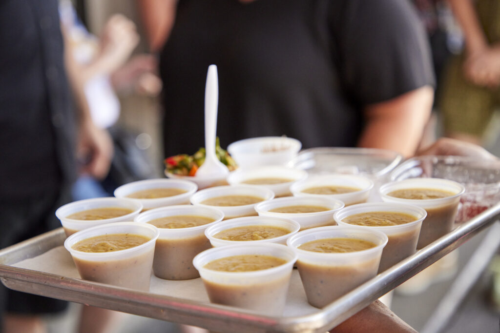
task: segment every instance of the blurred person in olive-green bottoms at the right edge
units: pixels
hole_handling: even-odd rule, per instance
[[[500,1],[447,1],[465,44],[451,59],[439,96],[444,134],[482,145],[500,106]]]

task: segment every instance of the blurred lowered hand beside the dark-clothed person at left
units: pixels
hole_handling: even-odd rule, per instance
[[[111,136],[91,120],[80,124],[78,134],[76,154],[82,164],[80,173],[103,179],[109,171],[113,155]]]

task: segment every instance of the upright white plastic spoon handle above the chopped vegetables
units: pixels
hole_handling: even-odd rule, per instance
[[[217,66],[208,66],[205,85],[205,151],[206,157],[215,156],[217,132],[218,80]]]

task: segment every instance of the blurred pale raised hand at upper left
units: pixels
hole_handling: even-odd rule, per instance
[[[114,14],[106,21],[99,39],[98,57],[108,73],[125,63],[139,39],[135,24],[125,16]]]

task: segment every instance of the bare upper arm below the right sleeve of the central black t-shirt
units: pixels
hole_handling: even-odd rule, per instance
[[[412,156],[432,108],[434,90],[423,86],[393,99],[367,105],[359,147],[390,149]]]

